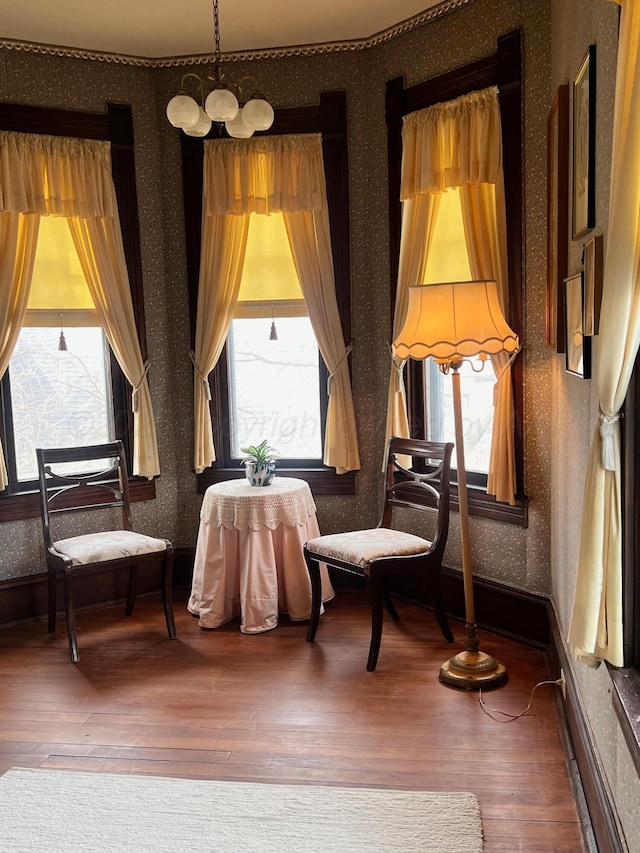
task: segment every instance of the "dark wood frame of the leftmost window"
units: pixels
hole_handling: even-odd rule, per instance
[[[116,196],[122,239],[131,285],[133,309],[143,359],[146,359],[146,334],[144,322],[144,296],[142,289],[142,261],[140,256],[140,229],[136,193],[135,162],[133,152],[133,120],[131,107],[108,104],[106,113],[83,113],[43,107],[0,103],[0,130],[17,133],[38,133],[50,136],[69,136],[81,139],[102,139],[111,142],[111,169]],[[110,358],[113,414],[116,438],[121,439],[131,466],[133,447],[133,415],[131,387],[118,362]],[[0,522],[40,515],[37,489],[15,483],[12,477],[13,429],[11,397],[8,377],[0,385],[0,433],[7,457],[10,486],[0,492]],[[155,483],[145,478],[130,477],[130,498],[149,500],[155,497]]]

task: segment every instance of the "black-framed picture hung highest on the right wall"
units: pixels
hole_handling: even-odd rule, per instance
[[[573,239],[596,224],[596,46],[589,49],[573,81]]]

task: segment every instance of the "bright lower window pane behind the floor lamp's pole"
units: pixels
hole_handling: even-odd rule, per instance
[[[451,376],[440,373],[432,358],[427,359],[426,363],[428,438],[431,441],[452,441],[455,444]],[[477,367],[477,364],[474,366]],[[467,471],[477,471],[481,474],[489,472],[494,384],[495,376],[491,364],[486,363],[482,373],[474,373],[468,362],[463,363],[460,369],[460,391]],[[451,464],[455,467],[455,450]]]

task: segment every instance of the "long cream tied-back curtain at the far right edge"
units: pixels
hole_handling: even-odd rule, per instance
[[[596,387],[600,423],[582,507],[569,643],[591,666],[623,666],[620,408],[640,345],[640,0],[622,6],[611,156],[611,200]]]

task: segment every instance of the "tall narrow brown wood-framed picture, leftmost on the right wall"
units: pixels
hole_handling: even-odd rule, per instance
[[[547,346],[564,352],[569,242],[569,85],[558,87],[547,119]]]

